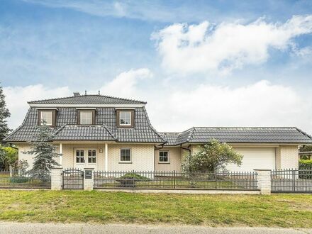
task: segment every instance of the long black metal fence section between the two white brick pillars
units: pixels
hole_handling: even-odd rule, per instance
[[[94,189],[257,190],[256,172],[94,172]]]

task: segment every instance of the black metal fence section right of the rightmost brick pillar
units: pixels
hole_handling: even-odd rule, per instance
[[[312,193],[312,169],[277,169],[271,172],[272,193]]]

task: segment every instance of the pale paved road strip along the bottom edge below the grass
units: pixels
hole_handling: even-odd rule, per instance
[[[22,233],[22,234],[45,234],[45,233],[174,233],[174,234],[201,234],[201,233],[216,233],[216,234],[312,234],[312,229],[283,229],[283,228],[207,228],[201,226],[169,226],[169,225],[123,225],[123,224],[109,224],[109,225],[90,225],[83,223],[0,223],[0,233]]]

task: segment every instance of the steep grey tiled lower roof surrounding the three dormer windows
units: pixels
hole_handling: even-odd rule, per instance
[[[134,128],[116,127],[116,109],[96,108],[96,125],[77,125],[77,110],[60,107],[57,111],[55,140],[116,140],[127,143],[165,143],[165,139],[152,128],[144,107],[135,108]],[[37,134],[38,110],[30,107],[21,127],[5,140],[9,142],[31,141]]]

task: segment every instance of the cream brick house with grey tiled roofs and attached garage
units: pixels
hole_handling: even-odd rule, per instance
[[[96,170],[181,170],[182,157],[196,152],[215,138],[229,143],[243,157],[243,165],[228,165],[233,171],[298,167],[299,145],[312,143],[298,128],[190,128],[182,133],[159,133],[152,127],[146,102],[103,95],[74,93],[59,99],[29,101],[21,126],[6,141],[18,147],[20,160],[30,167],[29,142],[37,126],[51,127],[53,144],[64,168],[93,167]]]

